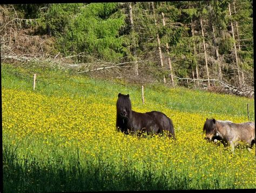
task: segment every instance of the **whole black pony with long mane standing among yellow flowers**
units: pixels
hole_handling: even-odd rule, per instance
[[[168,136],[175,139],[174,129],[171,119],[164,113],[152,111],[147,113],[138,113],[132,111],[129,94],[119,93],[117,100],[117,129],[125,134],[160,134],[164,130]]]

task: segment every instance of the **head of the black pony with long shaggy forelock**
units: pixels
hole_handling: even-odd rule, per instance
[[[124,95],[119,93],[117,99],[117,115],[123,118],[129,118],[132,111],[131,100],[129,94]]]

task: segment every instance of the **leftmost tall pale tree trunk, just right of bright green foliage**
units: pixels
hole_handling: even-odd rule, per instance
[[[132,54],[135,59],[135,74],[139,75],[138,59],[137,59],[137,50],[136,50],[136,40],[134,36],[134,24],[133,24],[133,15],[132,15],[132,3],[129,2],[129,16],[130,16],[130,26],[132,33]]]

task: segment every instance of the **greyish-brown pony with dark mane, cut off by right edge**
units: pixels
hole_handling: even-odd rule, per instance
[[[255,143],[255,123],[233,123],[231,121],[221,121],[215,119],[206,119],[203,132],[206,133],[205,139],[208,141],[219,140],[224,147],[238,146],[239,142],[246,142],[248,150],[251,150]]]

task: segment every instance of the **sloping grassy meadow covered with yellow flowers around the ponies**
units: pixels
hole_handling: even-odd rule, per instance
[[[97,80],[2,64],[4,192],[255,189],[255,146],[204,140],[206,118],[254,121],[254,99],[186,88]],[[36,90],[32,74],[37,73]],[[137,112],[161,111],[177,140],[117,132],[118,93]]]

